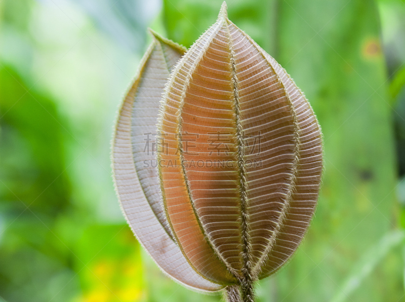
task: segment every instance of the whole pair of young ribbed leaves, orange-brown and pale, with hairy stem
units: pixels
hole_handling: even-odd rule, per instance
[[[225,3],[183,52],[155,35],[125,99],[112,154],[118,196],[167,274],[232,295],[240,285],[253,301],[253,282],[284,265],[308,228],[320,128],[294,81],[228,19]],[[158,146],[157,165],[145,165],[155,156],[145,140]]]

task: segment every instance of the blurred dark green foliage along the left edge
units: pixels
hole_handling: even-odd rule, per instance
[[[62,173],[66,169],[63,126],[53,100],[27,92],[9,66],[0,69],[0,87],[4,219],[0,291],[11,300],[42,301],[51,299],[56,288],[73,276],[69,250],[53,231],[55,218],[66,212],[71,195],[70,181]],[[70,283],[68,289],[77,290],[77,283]],[[69,298],[66,294],[61,301]]]

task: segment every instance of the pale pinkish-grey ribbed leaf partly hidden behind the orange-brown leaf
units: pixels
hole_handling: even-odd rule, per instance
[[[164,85],[185,49],[152,34],[154,41],[118,115],[112,142],[116,191],[131,229],[166,274],[195,289],[219,290],[222,286],[195,273],[183,257],[161,206],[159,181],[152,162],[153,134]]]

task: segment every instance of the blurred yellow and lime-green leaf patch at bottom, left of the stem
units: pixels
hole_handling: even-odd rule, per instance
[[[83,290],[77,301],[145,299],[140,246],[127,225],[90,226],[78,242],[75,260]]]

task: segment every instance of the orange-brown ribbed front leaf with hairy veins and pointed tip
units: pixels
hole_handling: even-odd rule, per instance
[[[164,206],[184,256],[252,300],[253,280],[289,259],[315,209],[322,148],[309,103],[224,3],[171,74],[158,130]]]

